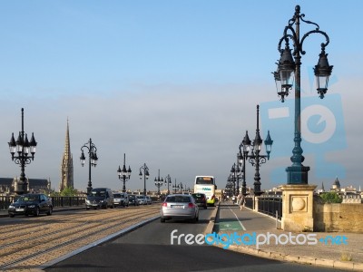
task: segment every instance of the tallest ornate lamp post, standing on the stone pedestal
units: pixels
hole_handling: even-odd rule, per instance
[[[309,166],[303,166],[304,156],[302,156],[301,149],[301,122],[300,122],[300,66],[301,54],[303,51],[303,43],[309,34],[322,34],[325,37],[325,44],[321,44],[321,53],[319,53],[319,62],[315,65],[314,73],[317,79],[317,90],[319,97],[324,98],[324,94],[328,91],[329,76],[333,66],[329,65],[328,53],[325,53],[325,47],[329,44],[329,36],[325,32],[319,30],[319,25],[303,19],[305,15],[300,14],[300,7],[296,5],[295,14],[289,20],[289,24],[285,26],[283,36],[279,42],[280,61],[278,63],[278,70],[274,72],[277,92],[281,97],[281,102],[284,102],[285,96],[288,96],[289,90],[292,88],[294,75],[295,75],[295,132],[294,142],[295,146],[292,150],[292,157],[290,158],[292,165],[286,171],[288,172],[288,184],[308,184],[308,171]],[[313,24],[316,26],[315,30],[310,30],[306,34],[299,37],[299,24],[300,20],[306,24]],[[295,24],[295,30],[293,25]],[[289,32],[289,33],[288,33]],[[293,52],[289,49],[289,39],[292,40]],[[281,49],[281,44],[285,42],[285,49]],[[292,55],[295,61],[292,59]]]

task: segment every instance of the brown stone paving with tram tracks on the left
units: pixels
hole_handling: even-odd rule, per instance
[[[55,212],[52,216],[19,221],[15,218],[0,229],[0,269],[39,270],[45,263],[155,218],[159,213],[160,206],[152,205],[66,215]]]

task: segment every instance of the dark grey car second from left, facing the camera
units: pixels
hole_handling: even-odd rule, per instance
[[[114,208],[113,192],[109,188],[94,188],[85,199],[85,209]]]

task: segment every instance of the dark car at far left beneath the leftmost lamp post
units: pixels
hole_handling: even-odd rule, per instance
[[[51,215],[53,212],[52,199],[44,194],[25,194],[21,195],[16,201],[10,204],[7,209],[9,217],[14,218],[15,215],[34,215],[39,216],[40,213]]]

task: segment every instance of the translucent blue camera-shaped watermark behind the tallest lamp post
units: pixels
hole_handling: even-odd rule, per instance
[[[346,131],[342,102],[339,94],[326,95],[323,100],[316,96],[301,98],[301,147],[303,155],[314,155],[316,178],[344,178],[342,165],[329,160],[329,152],[347,148]],[[263,135],[273,138],[271,157],[290,157],[294,141],[295,101],[260,103],[260,116]],[[309,161],[311,166],[312,161]],[[285,168],[273,170],[271,179],[280,183],[286,175]]]

